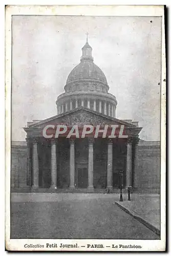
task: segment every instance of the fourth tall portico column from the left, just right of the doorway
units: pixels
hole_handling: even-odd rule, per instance
[[[89,139],[89,169],[88,169],[88,179],[89,186],[88,189],[90,191],[94,190],[93,186],[93,140]]]

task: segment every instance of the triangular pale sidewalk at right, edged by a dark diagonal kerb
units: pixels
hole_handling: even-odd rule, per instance
[[[123,200],[115,203],[155,233],[160,234],[160,195],[131,194],[132,201],[125,201],[125,197]]]

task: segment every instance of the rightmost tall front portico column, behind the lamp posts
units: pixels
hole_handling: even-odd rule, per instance
[[[132,186],[132,137],[127,138],[126,187]]]

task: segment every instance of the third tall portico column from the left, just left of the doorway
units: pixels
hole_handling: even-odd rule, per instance
[[[70,140],[70,188],[75,188],[75,148],[74,140]]]

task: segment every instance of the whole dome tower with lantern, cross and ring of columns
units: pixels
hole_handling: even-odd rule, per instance
[[[56,100],[58,114],[83,106],[115,117],[116,97],[108,93],[108,82],[101,69],[95,65],[92,50],[87,33],[80,63],[70,72],[64,87],[65,93],[59,95]]]

